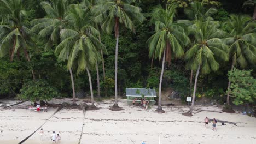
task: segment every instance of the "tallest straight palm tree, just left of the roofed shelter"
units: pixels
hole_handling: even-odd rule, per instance
[[[117,71],[118,71],[118,40],[119,40],[119,25],[135,31],[133,21],[142,22],[144,20],[141,14],[141,9],[131,5],[129,0],[108,0],[102,4],[96,5],[94,13],[96,22],[102,23],[101,28],[107,33],[115,32],[115,104],[113,107],[118,107],[118,86],[117,86]]]

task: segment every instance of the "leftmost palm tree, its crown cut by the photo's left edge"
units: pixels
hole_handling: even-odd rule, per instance
[[[0,0],[0,55],[9,53],[10,61],[13,61],[14,54],[24,51],[25,57],[30,62],[28,51],[35,47],[32,36],[33,32],[24,25],[26,2],[22,0]],[[33,69],[33,79],[36,79]]]

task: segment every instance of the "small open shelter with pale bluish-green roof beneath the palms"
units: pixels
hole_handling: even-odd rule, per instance
[[[155,89],[150,88],[126,88],[127,103],[132,103],[132,101],[137,98],[135,103],[141,103],[141,99],[146,99],[149,104],[154,104],[156,97]]]

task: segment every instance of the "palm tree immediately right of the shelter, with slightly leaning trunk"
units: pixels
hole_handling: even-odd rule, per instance
[[[159,82],[158,111],[164,112],[161,107],[162,75],[164,74],[165,61],[170,64],[172,57],[184,55],[183,46],[189,44],[190,40],[184,32],[180,23],[174,23],[176,6],[155,8],[152,20],[155,21],[155,34],[149,38],[149,56],[162,59],[162,70]]]

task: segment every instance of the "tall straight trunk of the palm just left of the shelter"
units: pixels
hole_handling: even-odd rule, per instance
[[[115,44],[115,104],[114,107],[118,107],[118,90],[117,90],[117,70],[118,70],[118,40],[119,40],[119,21],[118,17],[115,19],[115,37],[117,42]]]

